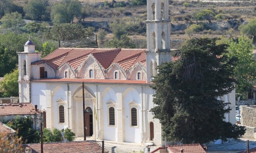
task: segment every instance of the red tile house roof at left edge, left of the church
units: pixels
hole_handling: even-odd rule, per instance
[[[31,103],[0,104],[1,115],[27,115],[39,113]]]

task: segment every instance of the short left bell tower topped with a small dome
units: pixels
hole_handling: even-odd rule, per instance
[[[30,103],[31,62],[40,60],[41,53],[35,52],[35,45],[28,40],[24,52],[18,52],[19,103]]]

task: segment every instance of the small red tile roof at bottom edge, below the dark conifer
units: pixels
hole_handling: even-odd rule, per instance
[[[181,150],[183,150],[183,153],[205,153],[206,151],[200,144],[182,144],[182,145],[168,145],[167,146],[170,153],[181,153]],[[159,147],[152,152],[156,152],[161,149],[166,149],[166,147]]]

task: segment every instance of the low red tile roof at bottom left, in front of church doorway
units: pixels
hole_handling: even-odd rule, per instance
[[[24,144],[24,148],[30,147],[32,149],[32,153],[41,152],[41,145],[40,143],[36,144]],[[101,153],[102,146],[94,141],[71,141],[71,142],[51,142],[51,143],[44,143],[43,149],[45,153],[59,153],[59,152],[66,152],[66,153],[75,153],[75,152],[95,152]],[[104,152],[108,152],[104,150]]]

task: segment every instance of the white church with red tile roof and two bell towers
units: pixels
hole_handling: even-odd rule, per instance
[[[68,127],[83,137],[85,128],[97,140],[163,146],[150,86],[156,67],[172,61],[168,5],[147,0],[145,49],[58,48],[40,59],[29,40],[17,53],[20,103],[37,105],[50,129]],[[234,92],[222,98],[235,108]],[[234,123],[231,116],[226,119]]]

